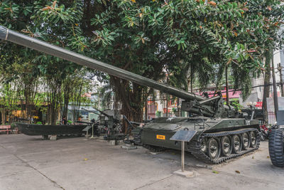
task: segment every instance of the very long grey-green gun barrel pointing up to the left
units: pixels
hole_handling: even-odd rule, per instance
[[[0,39],[4,41],[11,41],[13,43],[17,43],[21,46],[26,46],[28,48],[32,48],[36,51],[41,51],[43,53],[47,53],[51,56],[56,56],[58,58],[62,58],[64,60],[70,60],[79,65],[87,66],[88,68],[100,70],[104,73],[108,73],[109,75],[113,75],[118,78],[122,78],[125,80],[130,80],[133,83],[137,83],[139,85],[148,86],[154,88],[156,90],[160,90],[164,93],[168,93],[170,95],[174,95],[176,97],[180,97],[184,100],[197,100],[202,101],[206,100],[206,98],[195,95],[192,93],[188,93],[185,90],[180,90],[178,88],[174,88],[173,86],[166,85],[163,83],[158,83],[155,80],[151,80],[149,78],[145,78],[141,75],[136,75],[127,70],[117,68],[113,65],[109,65],[107,63],[103,63],[99,60],[95,60],[92,58],[88,58],[87,56],[82,56],[78,53],[74,53],[72,51],[68,51],[64,48],[60,48],[58,46],[54,46],[50,43],[46,43],[44,41],[40,41],[35,38],[31,38],[29,36],[23,35],[21,33],[11,31],[4,26],[0,26]]]

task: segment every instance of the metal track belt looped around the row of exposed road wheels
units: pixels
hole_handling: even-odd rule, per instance
[[[242,134],[244,132],[251,132],[251,131],[256,131],[256,147],[255,148],[250,148],[247,150],[242,150],[239,154],[230,154],[228,157],[219,157],[219,159],[217,160],[213,160],[210,157],[208,157],[206,154],[204,154],[204,152],[202,152],[201,150],[201,143],[202,139],[204,137],[223,137],[226,135],[230,135],[230,134]],[[233,159],[236,157],[241,157],[242,155],[249,153],[249,152],[253,152],[256,149],[258,149],[260,144],[260,137],[259,137],[259,133],[258,130],[255,128],[250,128],[250,129],[246,129],[246,130],[236,130],[236,131],[228,131],[228,132],[216,132],[216,133],[204,133],[201,135],[199,141],[193,141],[190,142],[188,148],[189,151],[197,158],[202,160],[202,162],[205,162],[207,164],[221,164],[222,162],[225,162],[226,160],[229,159]]]

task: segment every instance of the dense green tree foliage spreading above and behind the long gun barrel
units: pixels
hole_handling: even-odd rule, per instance
[[[280,1],[74,0],[0,1],[0,24],[154,80],[187,90],[194,80],[219,86],[229,69],[235,88],[250,93],[268,49],[280,45]],[[28,78],[42,76],[53,92],[80,66],[1,43],[6,83],[28,63]],[[96,73],[102,76],[102,73]],[[141,120],[148,88],[111,77],[122,113]],[[55,100],[56,102],[57,100]],[[56,104],[53,109],[56,109]]]

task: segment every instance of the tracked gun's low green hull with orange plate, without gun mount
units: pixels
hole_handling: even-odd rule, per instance
[[[259,146],[258,120],[245,120],[242,118],[158,118],[143,127],[141,142],[146,145],[144,146],[146,148],[181,149],[179,141],[170,140],[175,132],[179,130],[196,132],[190,142],[185,143],[185,151],[191,152],[198,159],[211,164],[219,164],[226,159],[241,156],[258,149]],[[239,139],[239,141],[235,140],[235,142],[234,139]],[[215,144],[212,145],[212,142]],[[232,151],[233,148],[238,147],[236,145],[238,143],[239,149]],[[222,153],[226,150],[224,145],[229,146],[228,154],[226,152]],[[212,157],[214,149],[218,149],[218,151],[215,151],[217,157]]]

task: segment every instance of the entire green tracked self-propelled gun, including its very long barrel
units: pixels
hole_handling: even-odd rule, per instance
[[[142,144],[152,150],[180,149],[180,142],[172,141],[170,137],[180,130],[190,130],[195,132],[195,135],[187,142],[185,150],[197,159],[211,164],[239,157],[259,147],[258,120],[239,118],[233,107],[224,105],[222,95],[211,98],[195,95],[11,31],[4,26],[0,26],[0,39],[180,97],[183,100],[182,110],[190,112],[193,117],[160,117],[148,122],[144,127],[133,130],[136,144]]]

